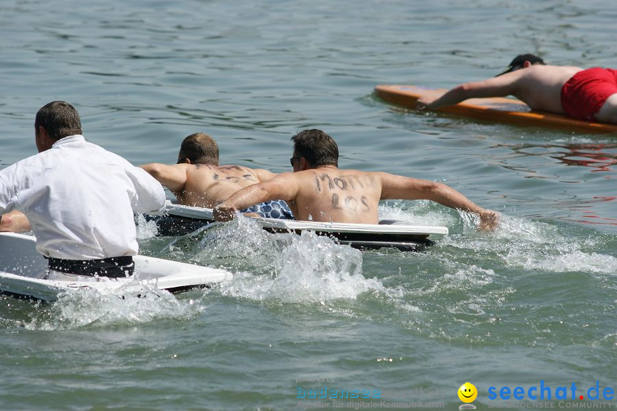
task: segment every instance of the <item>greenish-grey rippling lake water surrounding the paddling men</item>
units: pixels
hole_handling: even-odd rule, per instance
[[[379,390],[455,410],[470,381],[482,410],[519,407],[490,387],[527,395],[541,380],[559,408],[558,386],[569,406],[572,383],[585,401],[596,381],[617,390],[617,138],[419,114],[372,93],[479,80],[522,53],[617,67],[616,19],[597,0],[4,0],[0,167],[36,152],[36,110],[64,99],[87,139],[134,164],[175,163],[202,131],[223,163],[286,172],[290,137],[322,128],[341,167],[437,180],[503,219],[485,234],[437,204],[383,204],[384,218],[450,228],[424,253],[246,220],[184,237],[142,226],[143,253],[234,279],[157,299],[0,297],[0,408],[293,410],[327,386],[328,408],[352,409],[332,390]]]

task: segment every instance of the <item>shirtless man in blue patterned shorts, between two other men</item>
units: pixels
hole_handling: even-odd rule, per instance
[[[276,176],[265,169],[219,165],[219,146],[212,137],[203,132],[191,134],[182,141],[177,164],[150,163],[139,167],[167,187],[180,204],[208,209],[243,187],[262,183]],[[260,217],[293,220],[287,203],[274,198],[255,204],[243,212],[256,213]]]

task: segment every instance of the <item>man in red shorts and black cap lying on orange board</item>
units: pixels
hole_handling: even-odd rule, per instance
[[[435,110],[465,99],[513,95],[532,110],[584,121],[617,124],[617,71],[548,66],[533,54],[516,56],[496,77],[456,86],[441,97],[422,97],[417,107]]]

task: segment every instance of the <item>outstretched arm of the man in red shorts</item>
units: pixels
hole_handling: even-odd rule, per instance
[[[460,84],[454,89],[446,91],[446,93],[438,99],[420,97],[416,103],[416,108],[436,110],[437,108],[452,106],[470,98],[505,97],[506,95],[515,94],[518,87],[518,80],[523,74],[524,70],[516,70],[480,82]]]

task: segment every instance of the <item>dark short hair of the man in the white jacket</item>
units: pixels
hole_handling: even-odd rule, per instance
[[[34,119],[37,132],[39,126],[43,126],[49,137],[55,141],[73,134],[82,134],[80,113],[67,102],[51,102],[41,107]]]

